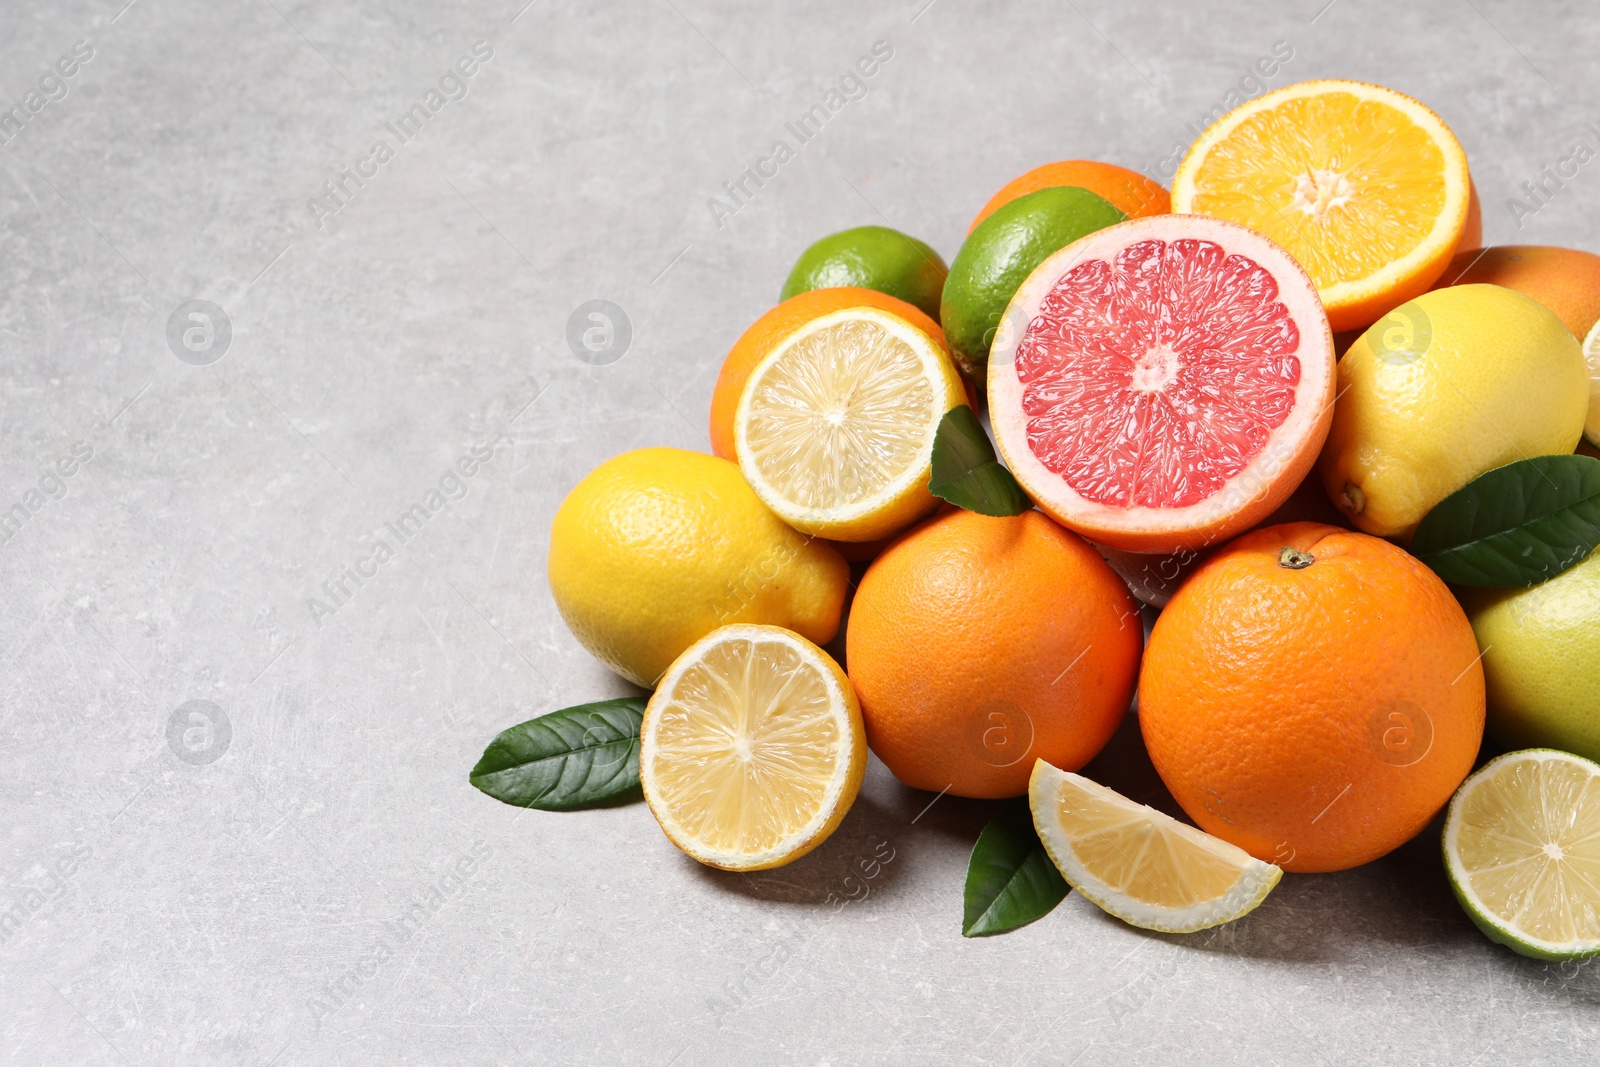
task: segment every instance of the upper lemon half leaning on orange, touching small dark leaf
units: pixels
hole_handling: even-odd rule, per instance
[[[963,403],[933,338],[869,307],[821,315],[750,373],[734,416],[739,467],[802,533],[875,541],[931,512],[933,437]]]

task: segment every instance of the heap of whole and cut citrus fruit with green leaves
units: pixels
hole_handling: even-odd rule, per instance
[[[1482,248],[1456,136],[1358,82],[1243,102],[1170,192],[1038,166],[949,266],[824,237],[728,352],[714,454],[624,453],[555,515],[557,608],[653,693],[472,782],[642,793],[757,870],[870,750],[1002,805],[974,936],[1067,886],[1195,931],[1437,833],[1491,939],[1600,953],[1597,320],[1600,256]],[[1187,819],[1078,774],[1130,704]]]

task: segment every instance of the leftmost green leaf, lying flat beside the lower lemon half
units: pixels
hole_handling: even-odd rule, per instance
[[[502,729],[469,781],[518,808],[576,811],[638,793],[645,699],[563,707]]]

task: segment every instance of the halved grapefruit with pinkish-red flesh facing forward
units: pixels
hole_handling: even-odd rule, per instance
[[[1333,419],[1317,288],[1269,238],[1197,214],[1067,245],[1016,291],[989,362],[1006,466],[1056,522],[1198,550],[1301,483]]]

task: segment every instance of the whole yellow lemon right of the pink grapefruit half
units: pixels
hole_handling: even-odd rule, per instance
[[[1339,360],[1322,483],[1366,533],[1410,537],[1485,470],[1571,453],[1587,411],[1587,365],[1555,312],[1453,285],[1394,309]]]

